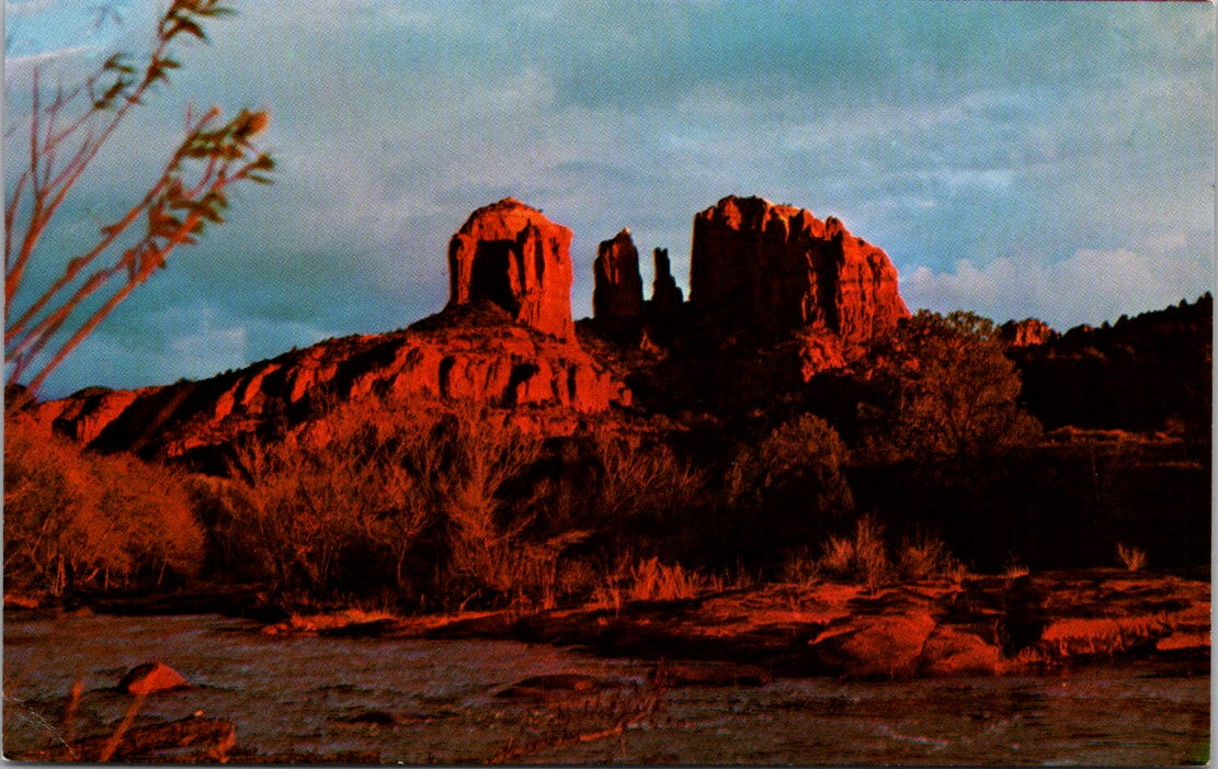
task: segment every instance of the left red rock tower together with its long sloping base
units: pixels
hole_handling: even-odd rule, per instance
[[[453,236],[448,306],[407,329],[325,340],[200,381],[85,390],[17,418],[96,448],[203,461],[270,423],[303,429],[324,403],[369,396],[510,408],[525,427],[570,433],[580,414],[631,401],[575,341],[570,241],[570,229],[507,199]]]

